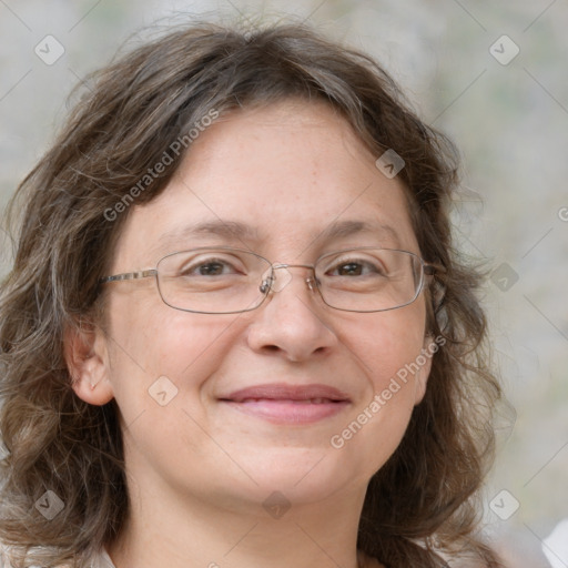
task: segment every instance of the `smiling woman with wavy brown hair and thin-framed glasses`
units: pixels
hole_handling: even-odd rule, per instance
[[[4,561],[499,566],[452,144],[305,26],[175,29],[93,80],[11,204]]]

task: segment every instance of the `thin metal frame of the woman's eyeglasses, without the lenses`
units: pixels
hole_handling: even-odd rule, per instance
[[[244,308],[244,310],[235,310],[235,311],[231,311],[231,312],[203,312],[203,311],[199,311],[199,310],[187,310],[187,308],[184,308],[184,307],[178,307],[178,306],[174,306],[172,304],[169,304],[165,301],[165,298],[164,298],[164,296],[162,294],[162,291],[160,288],[160,277],[159,277],[159,265],[160,265],[160,263],[163,260],[169,258],[170,256],[173,256],[173,255],[176,255],[176,254],[183,254],[183,253],[189,253],[189,252],[193,252],[193,251],[209,251],[209,250],[213,250],[213,251],[236,251],[236,252],[242,252],[242,253],[246,253],[246,254],[252,254],[253,256],[262,258],[263,261],[265,261],[270,265],[266,268],[266,270],[271,271],[270,277],[265,278],[264,281],[262,281],[260,286],[258,286],[258,291],[261,292],[261,294],[263,294],[263,296],[262,296],[262,301],[256,306],[247,307],[247,308]],[[419,261],[419,265],[420,265],[419,285],[417,286],[416,293],[415,293],[414,297],[410,301],[408,301],[408,302],[406,302],[406,303],[404,303],[404,304],[402,304],[399,306],[385,307],[385,308],[381,308],[381,310],[348,310],[348,308],[344,308],[344,307],[333,306],[333,305],[328,304],[325,301],[325,297],[324,297],[324,295],[322,293],[321,286],[320,286],[318,282],[317,282],[317,277],[316,277],[316,274],[315,274],[316,264],[322,258],[325,258],[326,256],[332,256],[332,255],[338,254],[338,253],[348,253],[348,252],[352,252],[352,251],[365,251],[365,250],[390,251],[390,252],[406,253],[406,254],[409,254],[410,256],[414,256],[415,258],[417,258]],[[268,297],[271,291],[274,291],[273,282],[275,281],[275,278],[272,278],[272,276],[274,274],[274,271],[275,270],[280,270],[280,268],[310,268],[310,270],[312,270],[314,276],[313,277],[308,276],[308,277],[305,278],[305,282],[306,282],[307,287],[310,288],[310,291],[313,292],[314,290],[316,290],[317,293],[320,294],[320,297],[322,298],[322,302],[326,306],[331,307],[332,310],[338,310],[341,312],[351,312],[351,313],[357,313],[357,314],[371,314],[371,313],[378,313],[378,312],[389,312],[392,310],[398,310],[400,307],[405,307],[407,305],[410,305],[412,303],[416,302],[417,297],[420,295],[420,292],[424,290],[424,285],[426,283],[426,278],[427,277],[432,277],[432,276],[434,276],[437,273],[445,272],[444,267],[442,267],[439,265],[436,265],[436,264],[433,264],[433,263],[426,262],[422,256],[419,256],[416,253],[413,253],[410,251],[405,251],[405,250],[402,250],[402,248],[385,248],[385,247],[382,247],[382,246],[356,246],[356,247],[353,247],[353,248],[343,248],[343,250],[339,250],[339,251],[332,251],[329,253],[325,253],[325,254],[318,256],[314,264],[272,263],[271,261],[268,261],[268,258],[265,258],[261,254],[253,253],[252,251],[247,251],[247,250],[244,250],[244,248],[236,248],[236,247],[233,247],[233,246],[200,246],[200,247],[196,247],[196,248],[187,248],[187,250],[183,250],[183,251],[175,251],[173,253],[168,253],[166,255],[162,256],[156,262],[154,268],[148,268],[148,270],[135,271],[135,272],[124,272],[124,273],[120,273],[120,274],[113,274],[111,276],[103,276],[103,277],[99,278],[99,284],[106,284],[106,283],[110,283],[110,282],[123,282],[123,281],[132,281],[132,280],[142,280],[142,278],[148,278],[148,277],[151,277],[151,276],[155,276],[158,293],[160,294],[160,297],[162,298],[162,302],[166,306],[171,307],[172,310],[179,310],[181,312],[189,312],[189,313],[192,313],[192,314],[209,314],[209,315],[241,314],[241,313],[245,313],[245,312],[253,312],[254,310],[257,310],[258,307],[261,307],[264,304],[264,302]],[[268,282],[268,287],[267,287],[266,292],[263,292],[262,287],[263,287],[263,285],[266,284],[267,281],[270,281]]]

